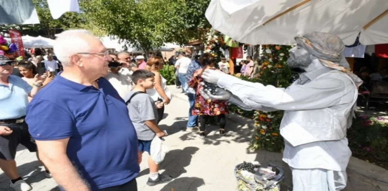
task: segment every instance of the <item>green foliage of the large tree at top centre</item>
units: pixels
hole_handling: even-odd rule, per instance
[[[186,43],[210,28],[210,0],[80,0],[87,20],[145,52],[163,43]]]

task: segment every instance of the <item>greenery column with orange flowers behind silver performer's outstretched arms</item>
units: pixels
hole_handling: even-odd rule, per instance
[[[286,88],[291,82],[291,71],[287,65],[288,50],[292,46],[262,45],[263,59],[260,67],[259,82],[264,85]],[[255,132],[251,149],[281,152],[284,141],[280,135],[280,123],[283,111],[255,111]]]

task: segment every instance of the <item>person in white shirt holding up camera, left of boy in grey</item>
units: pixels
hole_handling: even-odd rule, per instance
[[[113,61],[109,62],[109,71],[104,77],[112,84],[120,97],[124,98],[124,96],[132,90],[131,75],[133,71],[137,70],[137,67],[132,66],[130,69],[126,68],[130,65],[126,61],[130,60],[130,56],[126,52],[120,52],[117,55],[110,53],[109,56],[112,57]],[[126,59],[126,56],[128,56],[129,59]]]

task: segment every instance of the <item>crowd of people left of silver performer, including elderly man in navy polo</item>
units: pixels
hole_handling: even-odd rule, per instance
[[[14,160],[21,144],[37,152],[46,177],[54,177],[62,190],[136,190],[141,155],[150,154],[154,137],[165,136],[158,123],[172,98],[159,74],[166,60],[111,53],[84,30],[64,31],[54,52],[44,56],[0,56],[0,167],[10,187],[32,189]],[[225,134],[227,103],[198,93],[201,72],[216,64],[208,53],[192,60],[182,52],[175,63],[190,100],[187,131],[200,130],[200,138],[209,116],[218,117]],[[148,165],[149,186],[171,181],[158,173],[152,157]]]

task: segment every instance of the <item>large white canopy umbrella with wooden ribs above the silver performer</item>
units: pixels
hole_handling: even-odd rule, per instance
[[[352,45],[388,43],[388,0],[211,0],[206,18],[242,43],[293,45],[313,31]]]

